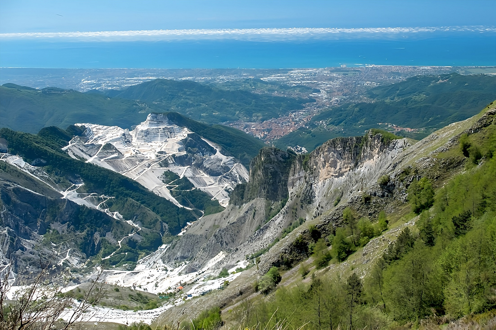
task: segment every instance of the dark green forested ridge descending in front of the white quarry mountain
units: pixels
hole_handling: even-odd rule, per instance
[[[50,134],[50,131],[56,134]],[[0,137],[7,141],[10,153],[22,156],[28,162],[46,162],[43,164],[48,172],[79,177],[86,190],[115,197],[108,205],[111,210],[119,210],[126,219],[134,218],[147,228],[172,234],[178,233],[187,221],[196,220],[198,215],[193,211],[176,207],[124,175],[70,158],[61,150],[67,143],[60,139],[63,134],[58,128],[46,128],[42,130],[42,136],[0,129]]]

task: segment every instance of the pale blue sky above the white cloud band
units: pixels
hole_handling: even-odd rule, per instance
[[[0,1],[0,33],[496,26],[495,0]]]

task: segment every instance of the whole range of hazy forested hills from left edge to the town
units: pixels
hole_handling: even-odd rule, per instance
[[[0,87],[0,122],[1,126],[29,133],[76,122],[130,128],[150,112],[171,110],[209,123],[258,121],[303,109],[304,103],[313,101],[230,91],[188,80],[156,79],[105,94],[53,87],[36,90],[9,83]]]

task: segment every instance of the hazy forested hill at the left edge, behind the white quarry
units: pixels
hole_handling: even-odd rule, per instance
[[[0,126],[28,133],[80,122],[130,128],[145,120],[149,112],[152,110],[146,105],[104,95],[59,88],[35,90],[14,84],[0,86]]]

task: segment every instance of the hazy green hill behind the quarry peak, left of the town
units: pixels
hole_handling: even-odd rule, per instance
[[[189,80],[156,79],[107,95],[146,102],[165,111],[178,111],[209,123],[244,120],[260,121],[303,109],[313,99],[294,99],[225,90]]]

